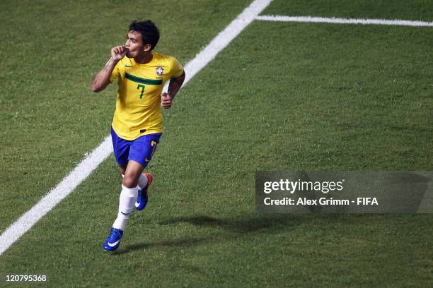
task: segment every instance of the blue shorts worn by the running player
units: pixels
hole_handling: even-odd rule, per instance
[[[129,160],[139,162],[144,167],[154,155],[156,145],[162,133],[140,136],[135,140],[125,140],[117,136],[111,128],[112,148],[115,152],[116,162],[120,167],[127,167]]]

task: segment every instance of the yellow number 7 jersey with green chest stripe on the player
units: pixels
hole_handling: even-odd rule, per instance
[[[163,131],[163,85],[170,78],[180,77],[183,67],[173,56],[152,54],[152,60],[146,64],[125,56],[111,73],[110,83],[118,78],[119,85],[112,128],[122,139],[134,140]]]

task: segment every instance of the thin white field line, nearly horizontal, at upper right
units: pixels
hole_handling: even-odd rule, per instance
[[[258,16],[256,20],[283,21],[283,22],[312,22],[312,23],[339,23],[339,24],[374,24],[374,25],[398,25],[398,26],[427,26],[433,27],[433,22],[410,20],[385,20],[385,19],[347,19],[347,18],[323,18],[311,16]]]

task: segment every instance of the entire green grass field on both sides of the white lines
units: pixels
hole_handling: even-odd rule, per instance
[[[304,2],[262,15],[433,20],[427,0]],[[155,20],[157,51],[185,64],[249,3],[3,1],[0,231],[109,134],[116,87],[94,94],[91,80],[132,19]],[[432,48],[432,28],[254,21],[163,112],[149,205],[119,250],[102,251],[120,192],[110,156],[0,256],[0,275],[47,275],[41,287],[433,286],[432,215],[263,216],[254,186],[257,170],[433,170]]]

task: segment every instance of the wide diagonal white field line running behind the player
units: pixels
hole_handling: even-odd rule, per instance
[[[194,59],[185,65],[186,79],[184,85],[191,80],[204,66],[209,64],[248,24],[255,20],[272,0],[255,0],[245,8],[236,19],[215,37]],[[106,137],[88,157],[86,157],[71,173],[69,173],[55,188],[45,195],[28,212],[13,222],[0,236],[0,255],[13,243],[20,239],[25,232],[33,227],[57,203],[62,201],[81,184],[100,163],[112,152],[111,138]]]

